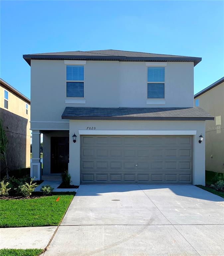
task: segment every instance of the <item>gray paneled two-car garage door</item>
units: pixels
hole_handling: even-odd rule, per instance
[[[191,184],[192,136],[81,136],[82,184]]]

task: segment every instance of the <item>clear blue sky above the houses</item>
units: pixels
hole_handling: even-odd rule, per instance
[[[30,97],[23,54],[116,49],[202,57],[194,92],[224,72],[223,1],[1,1],[1,78]]]

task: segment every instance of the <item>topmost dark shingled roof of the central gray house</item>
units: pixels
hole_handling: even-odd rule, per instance
[[[36,53],[25,54],[23,58],[29,65],[31,60],[182,61],[194,62],[194,66],[201,61],[198,57],[119,50]]]

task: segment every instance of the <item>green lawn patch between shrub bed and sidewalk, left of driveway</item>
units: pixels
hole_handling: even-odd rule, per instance
[[[57,226],[74,194],[64,192],[35,199],[0,200],[0,227]],[[60,199],[56,202],[58,196]]]

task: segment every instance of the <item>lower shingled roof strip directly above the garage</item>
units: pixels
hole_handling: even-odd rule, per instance
[[[66,107],[62,119],[73,120],[214,120],[202,108]]]

